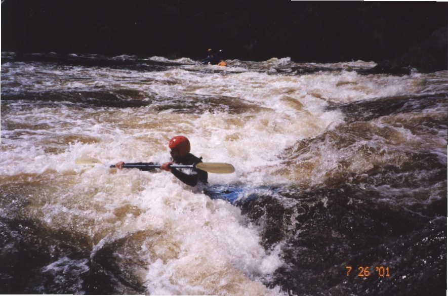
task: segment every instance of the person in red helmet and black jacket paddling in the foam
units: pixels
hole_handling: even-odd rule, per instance
[[[190,165],[202,162],[202,157],[198,158],[190,153],[190,141],[186,137],[173,137],[168,143],[168,147],[170,147],[172,161],[162,163],[160,166],[161,170],[171,172],[180,181],[190,186],[196,186],[197,183],[207,183],[208,174],[205,171],[198,170],[197,168],[177,169],[170,167],[173,163]],[[120,161],[115,166],[121,169],[123,164],[125,162]]]

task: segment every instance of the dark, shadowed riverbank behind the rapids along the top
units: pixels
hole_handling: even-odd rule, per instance
[[[447,68],[446,3],[6,1],[2,51],[296,62],[375,61],[376,72]]]

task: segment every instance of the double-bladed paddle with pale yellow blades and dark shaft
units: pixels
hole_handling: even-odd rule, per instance
[[[76,164],[102,164],[102,162],[96,158],[91,157],[79,157],[75,160]],[[201,171],[206,171],[209,173],[215,173],[215,174],[230,174],[235,172],[235,168],[230,163],[224,163],[224,162],[199,162],[195,165],[186,165],[186,164],[172,164],[170,165],[174,168],[198,168]],[[114,164],[110,165],[109,167],[115,167]],[[158,163],[125,163],[123,167],[126,168],[160,168],[160,164]]]

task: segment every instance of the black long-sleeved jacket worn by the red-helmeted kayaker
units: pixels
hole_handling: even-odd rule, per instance
[[[173,159],[172,159],[173,161]],[[186,164],[186,165],[191,165],[191,164],[196,164],[198,162],[202,162],[202,157],[198,158],[196,156],[194,156],[191,153],[188,153],[185,157],[182,157],[181,159],[178,159],[177,161],[175,161],[175,163],[177,164]],[[136,163],[138,164],[138,163]],[[140,171],[145,171],[145,172],[154,172],[155,169],[150,167],[150,168],[139,168]],[[207,174],[207,172],[205,171],[201,171],[197,168],[171,168],[171,173],[173,173],[174,176],[176,176],[177,179],[179,179],[180,181],[184,182],[187,185],[190,186],[196,186],[197,182],[201,182],[206,184],[207,183],[207,179],[209,177],[209,175]]]

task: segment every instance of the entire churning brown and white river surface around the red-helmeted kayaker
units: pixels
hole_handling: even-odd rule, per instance
[[[0,292],[439,295],[448,71],[2,53]],[[190,139],[211,199],[168,172]]]

